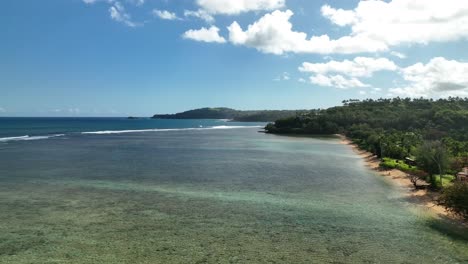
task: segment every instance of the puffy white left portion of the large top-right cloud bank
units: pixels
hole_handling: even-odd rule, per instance
[[[242,30],[237,22],[229,27],[229,40],[236,45],[256,48],[264,53],[282,55],[293,53],[357,53],[380,51],[385,44],[367,37],[342,37],[331,40],[327,35],[307,38],[303,32],[293,31],[289,21],[294,13],[291,10],[276,10],[264,15],[255,23]]]

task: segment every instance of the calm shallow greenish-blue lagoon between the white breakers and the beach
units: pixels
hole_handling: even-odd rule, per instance
[[[468,263],[337,139],[257,130],[0,143],[0,263]]]

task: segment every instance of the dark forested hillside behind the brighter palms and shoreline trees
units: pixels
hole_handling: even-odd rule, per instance
[[[443,140],[454,154],[468,150],[468,99],[378,99],[343,101],[269,124],[270,133],[336,134],[379,148],[388,141],[396,156],[422,140]],[[407,147],[407,150],[403,149]],[[401,148],[401,149],[400,149]]]

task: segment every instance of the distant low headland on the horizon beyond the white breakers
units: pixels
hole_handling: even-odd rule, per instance
[[[229,119],[239,122],[271,122],[306,113],[304,110],[235,110],[226,107],[199,108],[176,114],[154,115],[154,119]]]

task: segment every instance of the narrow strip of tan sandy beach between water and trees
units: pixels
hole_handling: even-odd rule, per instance
[[[370,168],[372,171],[376,172],[380,176],[385,177],[385,179],[387,179],[388,182],[393,184],[394,186],[404,189],[403,198],[408,203],[424,209],[425,212],[428,212],[429,214],[439,219],[449,220],[450,222],[456,222],[461,224],[462,226],[468,227],[467,223],[465,223],[462,219],[449,213],[443,206],[438,205],[436,203],[436,199],[440,195],[438,192],[430,191],[427,189],[415,190],[407,173],[398,169],[382,170],[380,168],[380,160],[375,155],[365,150],[361,150],[346,136],[337,136],[341,140],[340,144],[350,146],[354,153],[359,155],[364,160],[366,167]],[[420,181],[419,185],[422,186],[423,183],[424,181]]]

